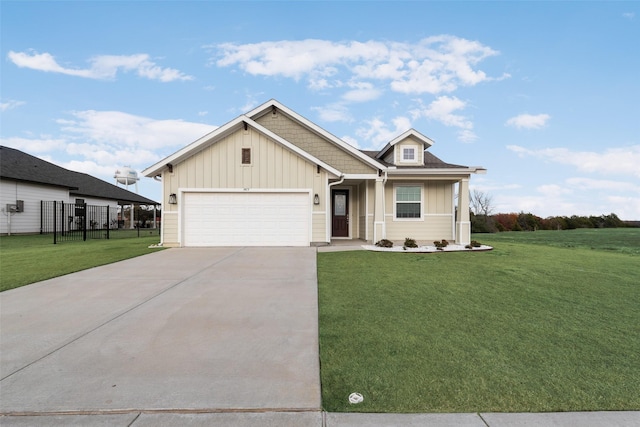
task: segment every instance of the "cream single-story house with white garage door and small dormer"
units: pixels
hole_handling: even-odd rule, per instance
[[[485,169],[445,163],[432,144],[411,129],[360,151],[271,100],[142,174],[162,180],[165,246],[467,244],[469,178]]]

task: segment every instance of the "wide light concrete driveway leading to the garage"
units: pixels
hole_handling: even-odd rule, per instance
[[[0,311],[5,415],[320,411],[315,248],[169,249]]]

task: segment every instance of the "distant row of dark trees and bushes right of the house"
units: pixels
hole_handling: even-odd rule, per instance
[[[490,195],[474,190],[469,199],[472,233],[640,227],[637,221],[623,221],[615,213],[600,216],[572,215],[547,218],[525,212],[493,214],[494,206]]]

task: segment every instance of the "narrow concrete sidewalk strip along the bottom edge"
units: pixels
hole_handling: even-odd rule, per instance
[[[0,417],[9,426],[109,427],[637,427],[640,411],[481,414],[359,414],[326,412],[130,412]]]

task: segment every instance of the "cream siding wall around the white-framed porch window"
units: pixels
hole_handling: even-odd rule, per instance
[[[394,216],[395,191],[397,185],[422,186],[422,218],[396,219]],[[455,183],[452,181],[391,181],[385,187],[385,222],[387,239],[404,241],[410,237],[416,240],[454,239]]]

